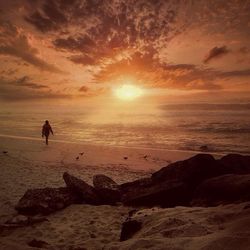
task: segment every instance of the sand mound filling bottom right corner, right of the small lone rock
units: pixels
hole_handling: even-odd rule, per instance
[[[133,218],[142,221],[142,230],[132,239],[114,242],[105,249],[250,249],[250,202],[210,208],[145,209]]]

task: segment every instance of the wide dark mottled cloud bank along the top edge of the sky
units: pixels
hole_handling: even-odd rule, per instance
[[[82,26],[87,33],[102,34],[104,38],[113,33],[111,40],[137,36],[155,39],[169,33],[178,5],[165,0],[44,0],[36,6],[32,1],[25,20],[39,31],[67,30],[71,25]],[[156,22],[159,21],[159,22]],[[119,34],[116,32],[119,31]]]

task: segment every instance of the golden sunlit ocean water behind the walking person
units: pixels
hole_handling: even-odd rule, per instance
[[[0,136],[40,139],[48,119],[52,140],[168,150],[250,153],[250,104],[161,105],[157,112],[0,111]],[[110,117],[110,119],[109,119]]]

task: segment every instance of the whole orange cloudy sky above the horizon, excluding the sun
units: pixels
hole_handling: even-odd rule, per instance
[[[249,0],[0,0],[0,101],[133,84],[144,102],[250,102],[249,13]]]

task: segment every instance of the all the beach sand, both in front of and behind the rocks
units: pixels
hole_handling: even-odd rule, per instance
[[[41,141],[0,139],[0,223],[16,214],[14,206],[28,188],[64,186],[64,171],[90,184],[98,173],[123,183],[194,154],[59,142],[47,147]],[[27,245],[32,239],[46,241],[49,249],[62,250],[249,249],[249,207],[245,203],[142,210],[134,216],[143,222],[143,229],[132,239],[119,242],[121,224],[132,208],[72,205],[47,216],[48,221],[0,232],[0,249],[36,249]]]

